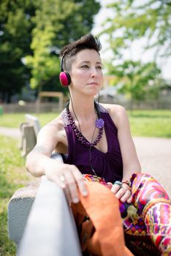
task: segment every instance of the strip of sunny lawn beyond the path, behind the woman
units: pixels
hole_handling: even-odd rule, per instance
[[[171,138],[171,110],[133,110],[128,111],[133,136]],[[58,116],[58,113],[35,114],[41,126]],[[1,127],[20,127],[25,121],[23,113],[0,116]]]

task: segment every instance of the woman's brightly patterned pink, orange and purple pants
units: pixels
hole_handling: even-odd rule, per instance
[[[104,180],[83,175],[86,180]],[[132,203],[121,203],[126,246],[136,256],[171,255],[171,205],[167,192],[153,177],[134,173]]]

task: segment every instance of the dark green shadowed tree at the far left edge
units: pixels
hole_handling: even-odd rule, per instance
[[[21,59],[30,54],[30,31],[34,24],[34,1],[0,2],[0,98],[9,102],[12,94],[20,92],[29,78],[29,70]]]

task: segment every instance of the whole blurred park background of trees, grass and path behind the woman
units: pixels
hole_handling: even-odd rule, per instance
[[[7,233],[9,199],[35,182],[20,152],[20,124],[31,113],[42,127],[64,108],[59,51],[88,33],[102,42],[100,102],[128,110],[142,170],[171,192],[171,1],[1,0],[1,256],[16,255]]]

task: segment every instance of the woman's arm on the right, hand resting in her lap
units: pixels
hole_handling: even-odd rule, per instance
[[[118,141],[121,148],[121,155],[123,160],[123,179],[122,181],[129,181],[133,173],[141,172],[141,166],[137,157],[137,152],[132,140],[132,135],[129,127],[129,118],[126,110],[120,105],[111,105],[110,116],[118,129]],[[131,203],[132,196],[128,191],[128,185],[125,183],[122,188],[118,185],[113,186],[113,192],[121,201]]]

